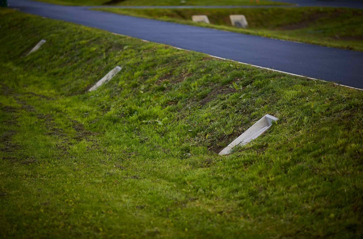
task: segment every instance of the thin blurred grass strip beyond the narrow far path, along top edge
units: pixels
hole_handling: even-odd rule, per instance
[[[121,6],[219,6],[219,5],[291,5],[289,3],[280,3],[276,1],[260,0],[187,0],[181,3],[181,0],[38,0],[46,3],[61,5],[121,5]]]

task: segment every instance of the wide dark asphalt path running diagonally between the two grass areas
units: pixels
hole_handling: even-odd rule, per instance
[[[363,88],[363,52],[27,0],[9,7],[275,70]]]

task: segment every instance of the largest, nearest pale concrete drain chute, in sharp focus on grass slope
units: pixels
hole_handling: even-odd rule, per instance
[[[265,115],[256,123],[254,123],[249,129],[233,140],[231,144],[225,147],[219,155],[229,154],[237,145],[245,145],[250,141],[256,139],[258,136],[265,133],[272,126],[272,121],[277,121],[278,118],[272,115]]]

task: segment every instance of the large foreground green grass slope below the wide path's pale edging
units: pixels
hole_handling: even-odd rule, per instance
[[[0,14],[2,238],[362,236],[362,91]]]

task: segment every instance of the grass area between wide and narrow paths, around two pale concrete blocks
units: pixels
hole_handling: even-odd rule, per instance
[[[360,9],[306,7],[97,10],[363,51],[363,10]],[[246,16],[248,29],[232,26],[229,15],[236,14]],[[207,15],[211,24],[192,22],[192,15]]]

